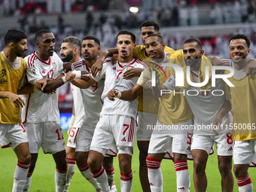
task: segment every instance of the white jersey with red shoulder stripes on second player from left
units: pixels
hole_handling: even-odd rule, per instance
[[[41,78],[57,78],[63,71],[62,60],[54,52],[47,61],[41,60],[34,51],[25,57],[26,75],[29,83],[35,84]],[[24,123],[59,121],[58,95],[41,91],[24,95],[25,107],[22,110]]]

